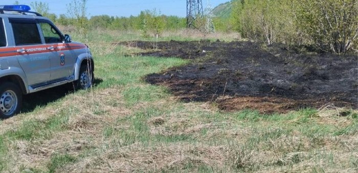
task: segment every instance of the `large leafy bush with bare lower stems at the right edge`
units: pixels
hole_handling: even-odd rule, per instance
[[[300,0],[298,25],[324,51],[345,53],[357,48],[358,1]]]

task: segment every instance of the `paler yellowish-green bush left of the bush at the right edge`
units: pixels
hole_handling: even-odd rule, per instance
[[[290,1],[247,0],[233,2],[231,23],[243,37],[263,41],[292,43],[297,38]]]

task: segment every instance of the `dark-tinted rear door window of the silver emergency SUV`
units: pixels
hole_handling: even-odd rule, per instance
[[[11,25],[16,46],[41,44],[41,38],[36,23],[12,22]]]

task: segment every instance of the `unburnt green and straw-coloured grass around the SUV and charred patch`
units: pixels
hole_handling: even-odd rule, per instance
[[[190,60],[136,56],[141,50],[111,44],[136,39],[140,37],[115,32],[73,35],[95,56],[95,86],[34,94],[23,113],[2,120],[0,170],[358,171],[356,110],[322,105],[260,114],[224,112],[206,102],[184,103],[143,77]],[[161,38],[170,39],[183,38]]]

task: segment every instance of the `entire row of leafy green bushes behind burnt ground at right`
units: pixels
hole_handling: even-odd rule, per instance
[[[245,38],[295,45],[317,45],[345,53],[358,48],[356,0],[236,0],[231,23]]]

